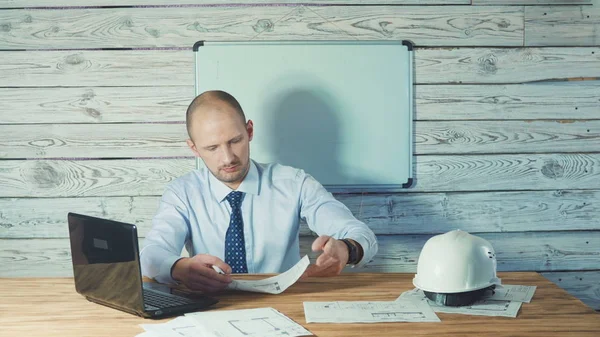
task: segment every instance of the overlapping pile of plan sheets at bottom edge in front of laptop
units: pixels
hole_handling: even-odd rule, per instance
[[[137,337],[294,337],[311,336],[273,308],[206,311],[186,314],[161,324],[141,324]]]

